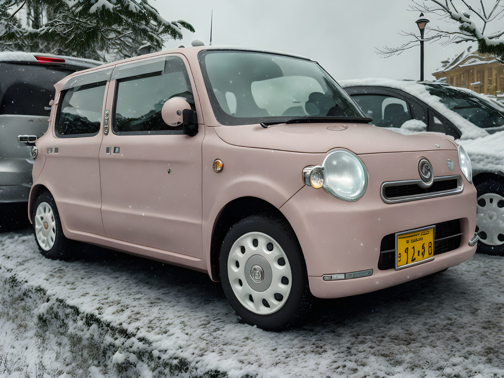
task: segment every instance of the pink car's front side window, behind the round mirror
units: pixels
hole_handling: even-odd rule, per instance
[[[182,97],[195,110],[191,82],[178,56],[167,57],[163,71],[119,79],[115,88],[115,134],[182,134],[182,125],[171,127],[163,121],[163,104]]]

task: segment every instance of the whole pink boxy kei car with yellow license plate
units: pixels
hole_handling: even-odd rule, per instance
[[[317,62],[190,47],[55,84],[33,145],[41,253],[74,240],[220,280],[267,330],[337,298],[446,270],[476,249],[467,154],[368,124]]]

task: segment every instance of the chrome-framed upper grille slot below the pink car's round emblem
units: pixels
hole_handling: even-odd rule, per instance
[[[422,187],[421,180],[384,182],[382,200],[389,204],[448,196],[462,192],[464,185],[459,175],[435,177],[430,187]]]

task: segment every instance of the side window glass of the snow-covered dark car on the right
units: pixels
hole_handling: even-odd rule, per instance
[[[375,94],[355,94],[352,98],[375,126],[400,128],[413,119],[408,103],[400,98]]]

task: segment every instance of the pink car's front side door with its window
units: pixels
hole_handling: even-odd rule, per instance
[[[101,214],[107,236],[202,257],[204,128],[190,137],[161,108],[183,97],[203,116],[187,60],[180,54],[117,65],[100,149]]]

